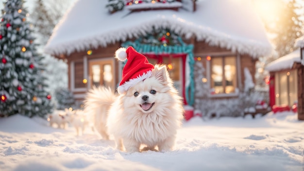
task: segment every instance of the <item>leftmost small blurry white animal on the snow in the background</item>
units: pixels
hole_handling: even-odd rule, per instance
[[[48,114],[48,119],[51,127],[54,127],[54,124],[57,125],[57,128],[66,128],[68,123],[66,118],[65,110],[55,110],[52,114]]]

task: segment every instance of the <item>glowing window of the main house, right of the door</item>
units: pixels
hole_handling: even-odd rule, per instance
[[[210,63],[212,93],[236,93],[236,57],[212,57]]]

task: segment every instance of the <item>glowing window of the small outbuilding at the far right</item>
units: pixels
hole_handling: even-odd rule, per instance
[[[292,106],[298,99],[297,71],[285,71],[275,74],[276,105]]]

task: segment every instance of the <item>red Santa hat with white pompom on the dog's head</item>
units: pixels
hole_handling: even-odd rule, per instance
[[[128,59],[122,69],[121,81],[117,89],[119,94],[125,93],[138,82],[152,76],[154,66],[133,47],[128,47],[127,49],[124,47],[118,48],[115,52],[115,58],[119,61]]]

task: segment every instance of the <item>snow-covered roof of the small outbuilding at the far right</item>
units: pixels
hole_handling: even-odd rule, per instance
[[[270,62],[265,69],[270,72],[291,69],[294,62],[301,62],[300,55],[300,49],[294,50],[293,52]]]

